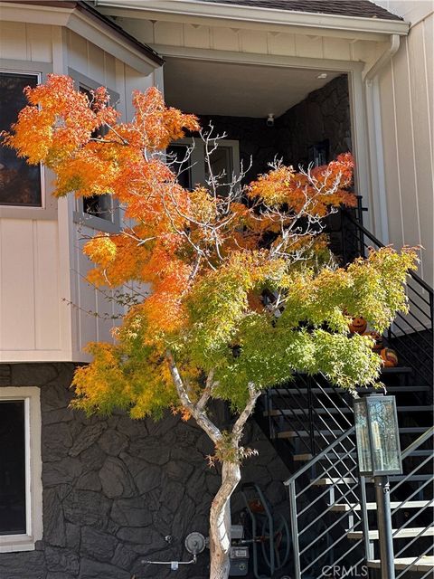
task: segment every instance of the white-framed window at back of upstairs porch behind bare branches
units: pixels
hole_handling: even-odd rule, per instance
[[[174,171],[179,173],[179,183],[185,189],[193,189],[195,185],[205,185],[210,176],[221,176],[219,193],[229,192],[232,175],[240,175],[239,142],[222,139],[210,154],[209,163],[205,156],[205,146],[202,140],[182,138],[167,147],[167,161],[175,161]]]

